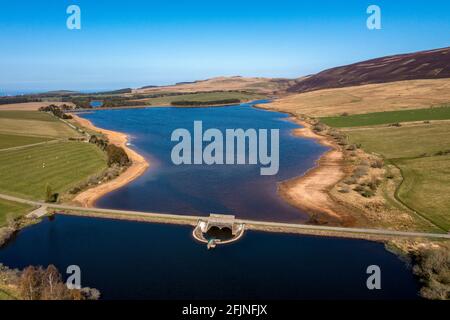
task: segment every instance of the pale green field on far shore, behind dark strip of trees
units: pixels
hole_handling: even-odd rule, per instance
[[[174,101],[216,101],[224,99],[239,99],[241,101],[264,99],[266,96],[262,94],[249,94],[242,92],[208,92],[208,93],[192,93],[177,96],[165,96],[159,98],[142,99],[143,103],[150,103],[153,106],[170,105]]]

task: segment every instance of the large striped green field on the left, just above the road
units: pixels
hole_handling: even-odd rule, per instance
[[[63,193],[106,168],[104,153],[81,142],[0,152],[0,192],[43,200],[47,183]]]

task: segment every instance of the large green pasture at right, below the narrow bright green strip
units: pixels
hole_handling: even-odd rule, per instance
[[[441,229],[450,230],[450,123],[343,130],[350,143],[382,155],[402,171],[397,197]]]

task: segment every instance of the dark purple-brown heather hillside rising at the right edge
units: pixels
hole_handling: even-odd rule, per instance
[[[450,78],[450,47],[388,56],[336,67],[299,79],[288,92],[386,83],[416,79]]]

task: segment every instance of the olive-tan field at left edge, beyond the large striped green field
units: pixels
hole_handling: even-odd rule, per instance
[[[0,133],[54,138],[79,136],[55,117],[38,111],[0,111]]]

